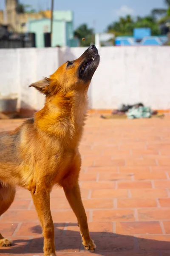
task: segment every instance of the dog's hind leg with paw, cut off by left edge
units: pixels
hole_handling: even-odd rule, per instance
[[[0,182],[0,215],[10,207],[15,197],[15,188]],[[11,241],[0,233],[0,246],[11,246]]]

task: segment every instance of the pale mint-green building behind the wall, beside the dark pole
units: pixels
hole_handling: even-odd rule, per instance
[[[44,33],[50,32],[51,19],[29,20],[28,32],[35,33],[36,47],[44,47]],[[72,11],[54,11],[53,13],[53,33],[51,46],[55,47],[79,46],[79,40],[74,38],[73,12]]]

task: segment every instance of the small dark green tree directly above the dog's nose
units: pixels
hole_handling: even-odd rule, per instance
[[[94,31],[88,28],[87,24],[80,25],[74,31],[74,35],[79,38],[81,46],[89,46],[94,41]],[[85,38],[85,41],[82,41],[82,38]]]

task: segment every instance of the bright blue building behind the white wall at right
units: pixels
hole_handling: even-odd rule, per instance
[[[166,35],[151,36],[149,28],[136,28],[133,36],[119,36],[115,38],[116,46],[147,46],[163,45],[167,41]]]

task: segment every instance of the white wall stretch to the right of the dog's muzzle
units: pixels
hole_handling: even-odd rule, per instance
[[[92,108],[136,102],[170,108],[170,47],[102,47],[99,53]]]

